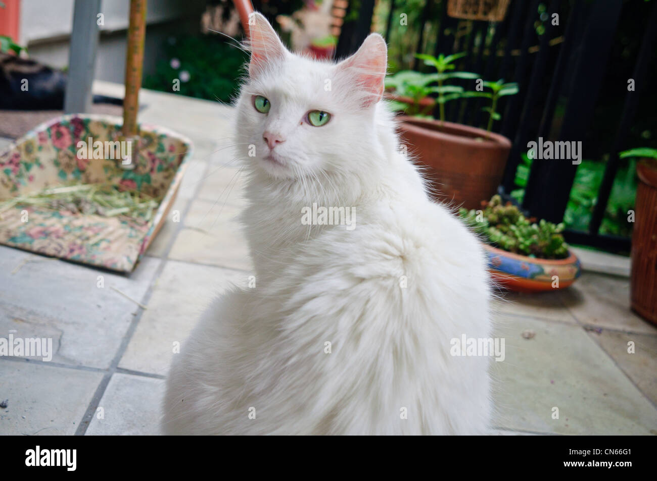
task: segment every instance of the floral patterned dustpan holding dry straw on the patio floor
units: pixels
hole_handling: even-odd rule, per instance
[[[150,220],[102,217],[37,206],[0,213],[0,243],[51,257],[131,272],[166,219],[177,194],[192,144],[188,138],[140,125],[135,169],[113,159],[87,159],[78,142],[120,139],[120,117],[74,114],[39,125],[0,153],[0,202],[44,188],[115,184],[162,198]]]

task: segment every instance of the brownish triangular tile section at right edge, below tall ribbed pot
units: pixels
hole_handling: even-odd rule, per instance
[[[657,406],[657,336],[603,330],[589,332],[616,364]],[[630,345],[634,352],[631,354]]]

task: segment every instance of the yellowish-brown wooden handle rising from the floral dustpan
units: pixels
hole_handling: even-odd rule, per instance
[[[130,0],[130,24],[127,30],[127,54],[125,56],[125,137],[137,136],[137,109],[139,87],[144,64],[144,37],[146,36],[146,1]]]

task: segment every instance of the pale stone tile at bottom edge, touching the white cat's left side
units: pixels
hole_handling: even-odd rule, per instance
[[[85,434],[160,434],[164,389],[164,379],[115,373],[98,404],[102,410],[96,410]]]

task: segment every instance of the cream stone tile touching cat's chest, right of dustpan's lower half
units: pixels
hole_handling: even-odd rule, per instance
[[[169,259],[253,270],[246,238],[235,221],[238,213],[239,209],[231,205],[193,201]]]

